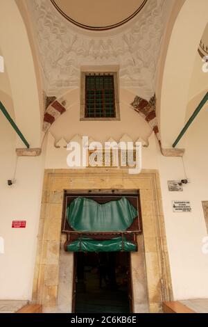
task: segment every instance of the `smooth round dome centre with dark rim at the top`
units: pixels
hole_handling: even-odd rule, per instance
[[[70,22],[84,29],[113,29],[128,22],[148,0],[51,0]],[[86,15],[87,13],[87,15]]]

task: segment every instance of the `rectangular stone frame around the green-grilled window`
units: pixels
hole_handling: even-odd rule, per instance
[[[96,75],[107,75],[110,74],[113,76],[114,79],[114,110],[115,110],[115,117],[85,117],[85,81],[86,76],[89,76],[89,74],[96,74]],[[120,110],[119,110],[119,86],[118,86],[118,75],[117,72],[103,72],[103,71],[87,71],[87,72],[81,72],[81,92],[80,92],[80,120],[85,121],[107,121],[107,120],[120,120]]]

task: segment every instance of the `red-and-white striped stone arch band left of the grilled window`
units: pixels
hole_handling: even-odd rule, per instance
[[[44,114],[44,122],[43,122],[43,131],[45,133],[51,127],[53,122],[55,122],[55,120],[57,120],[57,118],[59,118],[60,115],[62,115],[62,113],[66,111],[64,105],[65,105],[64,101],[60,102],[60,100],[55,100],[48,106]]]

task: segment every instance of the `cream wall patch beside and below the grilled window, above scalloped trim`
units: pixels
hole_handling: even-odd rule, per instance
[[[56,120],[51,127],[51,134],[58,141],[65,138],[69,141],[74,135],[81,134],[94,138],[95,141],[107,141],[110,137],[119,139],[123,134],[128,134],[133,140],[139,136],[146,140],[151,134],[150,126],[130,106],[135,95],[126,90],[120,90],[120,115],[121,120],[111,121],[80,121],[79,92],[76,94],[77,102],[69,98],[69,104],[73,102],[66,113]]]

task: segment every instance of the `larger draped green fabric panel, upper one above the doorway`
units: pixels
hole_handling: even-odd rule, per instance
[[[78,197],[67,207],[69,225],[80,232],[125,231],[137,216],[137,209],[125,197],[104,204]]]

